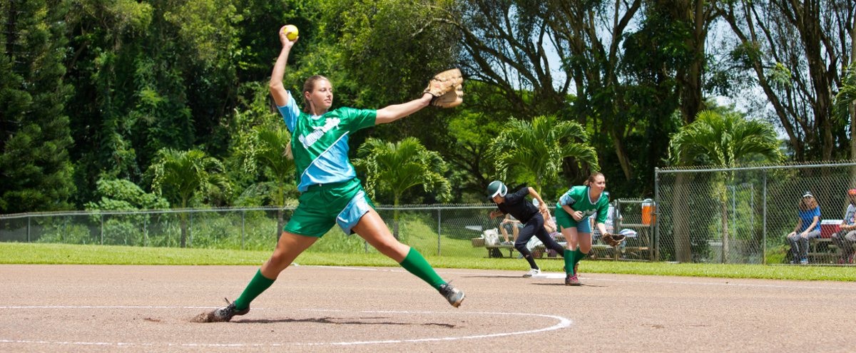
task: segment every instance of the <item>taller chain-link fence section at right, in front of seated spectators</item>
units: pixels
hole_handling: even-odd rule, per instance
[[[799,263],[794,231],[805,192],[821,211],[819,237],[807,257],[837,264],[842,250],[829,241],[849,203],[856,163],[764,165],[728,169],[657,170],[657,260],[708,263]],[[847,254],[843,254],[847,255]]]

